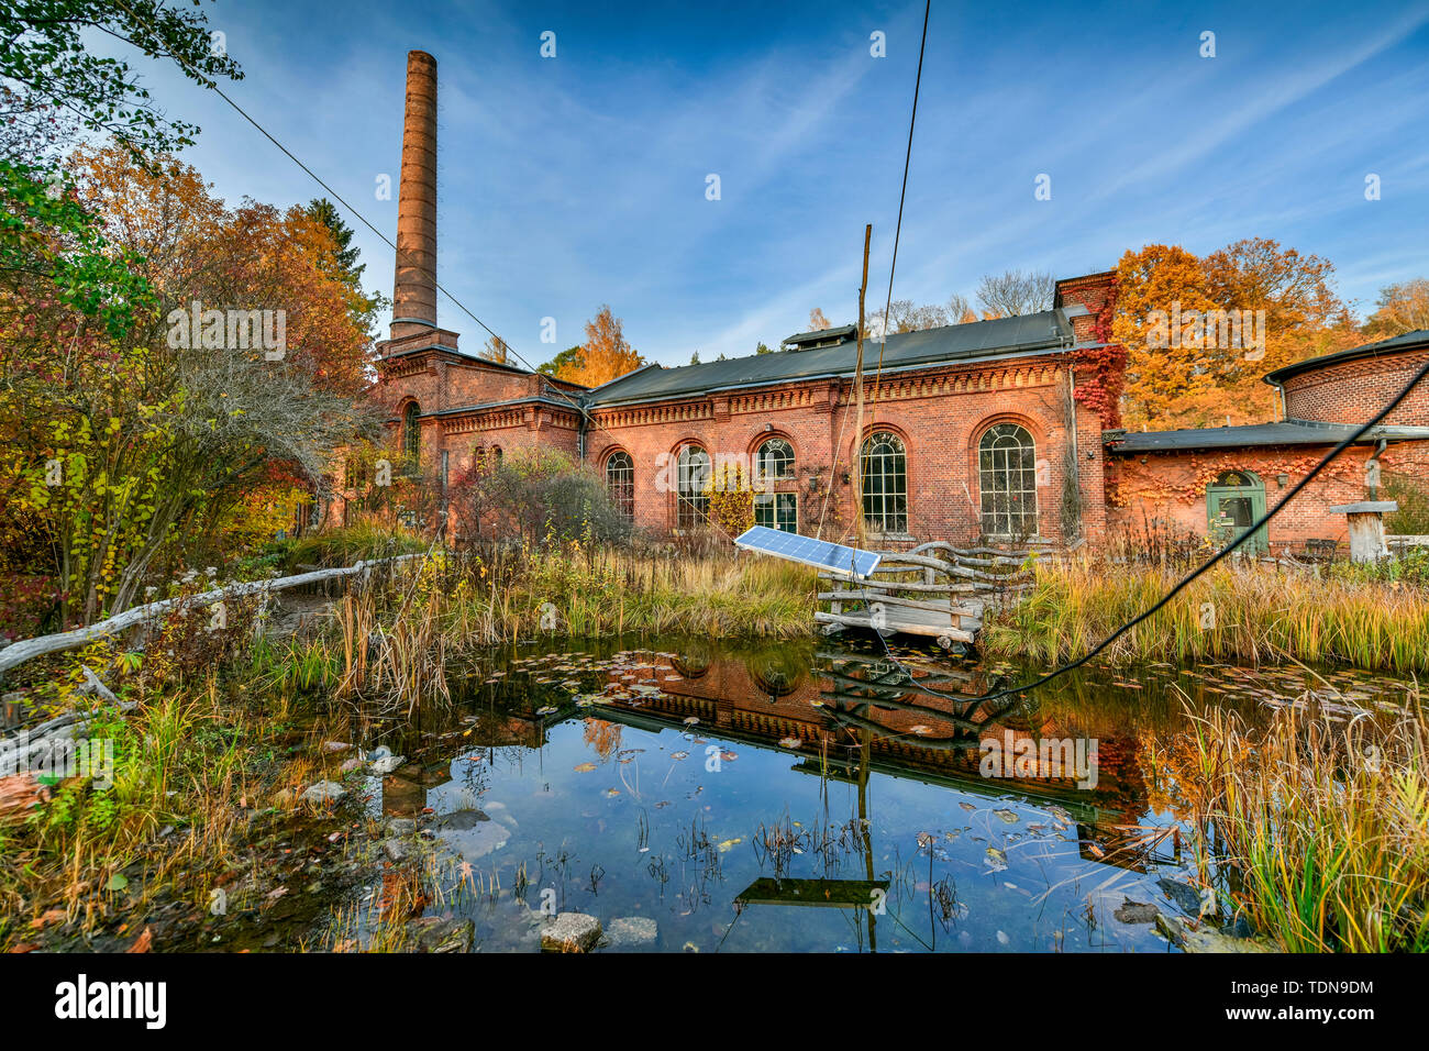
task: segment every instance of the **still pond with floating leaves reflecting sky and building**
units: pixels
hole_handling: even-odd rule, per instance
[[[1153,665],[976,699],[1040,671],[877,642],[532,643],[390,731],[406,762],[366,805],[424,829],[427,914],[470,919],[483,952],[539,951],[566,911],[600,919],[599,951],[1166,952],[1155,914],[1205,897],[1147,742],[1187,706],[1403,696]],[[393,871],[372,864],[360,915]]]

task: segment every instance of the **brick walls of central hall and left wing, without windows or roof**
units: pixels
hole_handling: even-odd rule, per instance
[[[1057,283],[1057,303],[1099,310],[1115,295],[1113,273]],[[1079,339],[1090,339],[1090,317],[1076,319]],[[447,478],[464,472],[479,446],[503,453],[537,445],[577,455],[576,412],[540,403],[446,413],[464,405],[537,398],[549,392],[544,376],[503,369],[456,353],[456,333],[416,333],[380,349],[374,398],[389,412],[387,440],[402,446],[404,412],[422,412],[423,468],[434,476],[442,452]],[[432,349],[432,345],[436,345]],[[409,352],[390,356],[394,352]],[[796,352],[795,352],[796,353]],[[946,539],[972,542],[982,533],[977,443],[995,423],[1017,423],[1033,438],[1037,460],[1039,536],[1063,538],[1063,499],[1076,492],[1082,529],[1093,539],[1106,522],[1103,450],[1096,415],[1072,399],[1070,355],[1040,355],[986,363],[953,363],[883,376],[865,386],[863,435],[890,430],[905,443],[907,533],[873,538],[882,546]],[[576,390],[574,385],[560,385]],[[797,495],[799,531],[830,539],[852,536],[856,520],[852,463],[853,385],[810,380],[746,392],[725,392],[592,412],[584,458],[597,470],[616,449],[634,460],[636,525],[667,533],[676,523],[673,459],[686,443],[700,445],[716,460],[749,463],[769,438],[795,450],[796,476],[773,483]]]

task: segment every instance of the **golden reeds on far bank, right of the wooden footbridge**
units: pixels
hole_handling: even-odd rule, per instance
[[[1179,572],[1169,566],[1039,565],[1035,586],[987,626],[985,645],[997,656],[1079,658],[1155,605],[1177,579]],[[1285,658],[1429,672],[1429,592],[1395,581],[1218,566],[1117,639],[1100,659]]]

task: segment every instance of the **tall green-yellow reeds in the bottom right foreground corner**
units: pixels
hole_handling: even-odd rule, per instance
[[[1418,695],[1393,716],[1233,712],[1149,745],[1150,776],[1186,806],[1198,864],[1289,952],[1429,949],[1429,729]]]

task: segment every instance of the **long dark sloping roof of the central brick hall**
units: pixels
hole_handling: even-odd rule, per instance
[[[1043,310],[1022,317],[999,317],[990,322],[892,335],[883,350],[883,370],[910,365],[980,360],[1016,352],[1032,353],[1070,347],[1072,343],[1072,326],[1066,315],[1062,310]],[[879,343],[865,340],[863,363],[870,372],[876,366],[877,356]],[[582,399],[586,405],[599,408],[762,383],[847,376],[853,373],[856,362],[857,343],[846,339],[837,346],[812,350],[782,350],[674,369],[639,369],[582,395]]]

